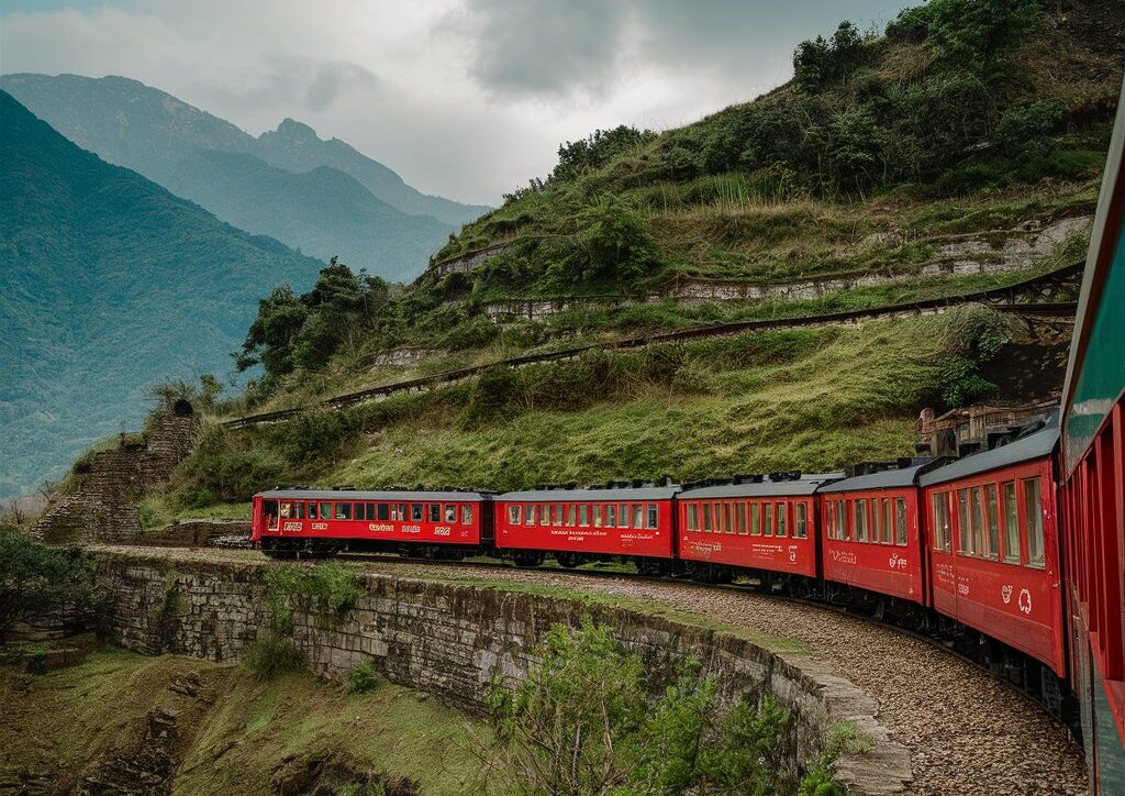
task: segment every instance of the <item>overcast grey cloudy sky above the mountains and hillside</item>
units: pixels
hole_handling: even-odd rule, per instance
[[[120,74],[248,132],[286,116],[431,194],[496,204],[561,141],[663,129],[791,77],[897,0],[0,0],[0,71]]]

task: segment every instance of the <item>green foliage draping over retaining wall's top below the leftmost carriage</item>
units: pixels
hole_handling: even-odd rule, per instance
[[[262,575],[263,602],[270,614],[270,629],[278,636],[292,634],[292,609],[340,614],[360,594],[356,572],[336,562],[315,566],[271,566]]]

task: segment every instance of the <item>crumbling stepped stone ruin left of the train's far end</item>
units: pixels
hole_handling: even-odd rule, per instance
[[[32,535],[51,544],[126,542],[141,537],[133,502],[165,481],[190,451],[197,420],[190,406],[162,414],[141,449],[93,454],[81,484],[47,504]]]

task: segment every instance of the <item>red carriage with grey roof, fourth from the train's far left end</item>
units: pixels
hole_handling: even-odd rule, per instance
[[[925,605],[918,479],[938,464],[904,459],[866,465],[867,472],[820,488],[827,582]],[[880,466],[888,468],[870,472]]]

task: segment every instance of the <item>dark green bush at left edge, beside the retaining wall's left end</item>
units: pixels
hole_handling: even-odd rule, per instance
[[[17,621],[93,606],[93,570],[81,551],[45,547],[0,526],[0,638]]]

